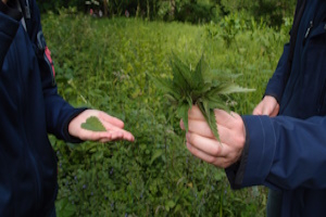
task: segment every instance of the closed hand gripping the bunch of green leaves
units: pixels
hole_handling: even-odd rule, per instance
[[[243,120],[237,113],[214,110],[220,141],[197,106],[188,113],[187,149],[192,155],[221,168],[236,163],[242,153],[246,141]],[[185,129],[180,120],[181,129]]]

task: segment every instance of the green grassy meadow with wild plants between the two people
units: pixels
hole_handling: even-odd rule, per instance
[[[58,216],[264,216],[266,189],[230,190],[224,170],[190,155],[179,119],[147,73],[171,76],[172,52],[193,67],[241,74],[256,89],[234,94],[233,110],[251,114],[273,74],[289,24],[266,27],[239,14],[189,25],[135,18],[43,14],[59,91],[75,106],[125,122],[136,141],[70,144],[58,155]]]

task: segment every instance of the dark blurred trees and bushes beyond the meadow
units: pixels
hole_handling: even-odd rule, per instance
[[[217,22],[235,12],[246,12],[256,21],[279,26],[283,18],[291,16],[296,0],[47,0],[40,1],[42,13],[59,13],[63,8],[75,12],[93,11],[99,16],[136,16],[147,20],[179,21],[196,23]]]

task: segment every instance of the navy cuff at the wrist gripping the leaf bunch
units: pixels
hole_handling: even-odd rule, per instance
[[[246,144],[239,163],[226,169],[231,188],[263,184],[276,150],[274,128],[268,116],[242,116]]]

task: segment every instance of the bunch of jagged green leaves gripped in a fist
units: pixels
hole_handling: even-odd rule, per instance
[[[249,92],[248,89],[234,82],[238,75],[223,74],[210,69],[203,55],[195,69],[179,60],[173,53],[171,59],[173,78],[152,76],[156,87],[165,92],[171,105],[176,108],[176,114],[184,120],[188,131],[188,111],[197,105],[208,122],[213,135],[220,140],[214,108],[229,112],[227,102],[229,94],[236,92]]]

